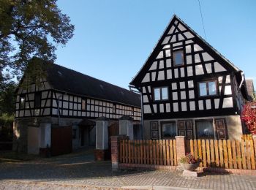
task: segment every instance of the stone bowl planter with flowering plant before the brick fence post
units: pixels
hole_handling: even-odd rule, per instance
[[[180,159],[181,167],[184,170],[194,171],[199,166],[199,160],[195,159],[192,153],[187,153],[186,156],[182,156]]]

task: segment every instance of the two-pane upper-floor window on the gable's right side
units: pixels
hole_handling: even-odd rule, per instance
[[[216,81],[199,83],[199,95],[200,96],[217,95]]]

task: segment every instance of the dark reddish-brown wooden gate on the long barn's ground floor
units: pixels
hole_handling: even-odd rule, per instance
[[[56,156],[72,152],[72,126],[52,127],[51,155]]]

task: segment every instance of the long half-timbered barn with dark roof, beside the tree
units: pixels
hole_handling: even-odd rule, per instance
[[[39,83],[17,89],[14,150],[39,153],[49,147],[53,154],[67,153],[95,146],[97,118],[116,125],[129,115],[140,123],[140,94],[57,64],[44,65]]]

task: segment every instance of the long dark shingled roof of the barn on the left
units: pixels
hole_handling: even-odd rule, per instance
[[[57,90],[140,107],[140,94],[57,64],[46,66],[48,82]]]

